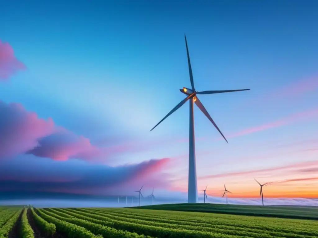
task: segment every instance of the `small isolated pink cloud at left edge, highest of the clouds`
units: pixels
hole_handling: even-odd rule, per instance
[[[0,81],[5,81],[18,70],[24,69],[26,69],[25,65],[14,56],[10,44],[0,40]]]

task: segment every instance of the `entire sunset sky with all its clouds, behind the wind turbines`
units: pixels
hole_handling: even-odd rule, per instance
[[[199,96],[229,142],[195,107],[199,197],[317,204],[318,2],[1,8],[0,193],[186,199],[188,103],[150,132],[190,88],[186,34],[198,91],[251,89]]]

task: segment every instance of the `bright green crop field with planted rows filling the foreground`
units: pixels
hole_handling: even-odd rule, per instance
[[[155,207],[155,206],[154,206]],[[318,221],[136,208],[0,207],[0,237],[318,237]]]

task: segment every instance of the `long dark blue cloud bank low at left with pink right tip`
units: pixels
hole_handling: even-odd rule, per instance
[[[35,162],[32,155],[0,163],[0,191],[64,192],[74,194],[112,194],[119,190],[134,191],[143,183],[166,186],[157,179],[168,158],[138,164],[110,167],[84,161]],[[149,184],[150,186],[150,184]]]

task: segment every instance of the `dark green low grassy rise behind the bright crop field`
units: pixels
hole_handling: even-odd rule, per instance
[[[135,209],[206,212],[232,215],[318,220],[316,207],[225,205],[213,203],[177,203],[134,207]]]

